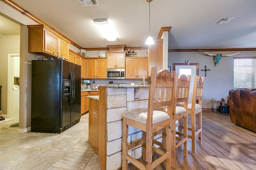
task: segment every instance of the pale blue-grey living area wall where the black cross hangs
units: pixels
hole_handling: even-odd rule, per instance
[[[212,54],[232,54],[237,51],[230,52],[209,52]],[[202,108],[218,108],[218,100],[228,98],[229,90],[233,89],[233,64],[234,57],[255,57],[256,51],[245,51],[232,57],[222,57],[218,66],[214,64],[214,57],[204,55],[199,52],[169,52],[168,66],[173,69],[173,63],[199,63],[199,76],[204,76],[204,66],[210,71],[204,78],[204,90]]]

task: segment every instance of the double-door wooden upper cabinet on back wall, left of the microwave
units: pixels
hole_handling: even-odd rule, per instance
[[[91,79],[106,79],[107,68],[106,58],[90,58],[86,59],[86,78]]]

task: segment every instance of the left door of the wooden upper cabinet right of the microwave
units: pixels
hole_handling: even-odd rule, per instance
[[[136,71],[136,59],[126,59],[125,63],[125,77],[126,79],[135,79],[137,78],[137,71]]]

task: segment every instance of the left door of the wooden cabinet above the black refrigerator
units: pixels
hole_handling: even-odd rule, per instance
[[[57,56],[58,54],[58,36],[50,31],[44,31],[44,51],[52,55]]]

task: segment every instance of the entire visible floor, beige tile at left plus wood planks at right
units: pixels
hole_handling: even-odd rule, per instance
[[[194,153],[188,139],[187,157],[177,148],[177,170],[256,170],[256,133],[234,125],[225,113],[203,111],[202,117],[202,145],[196,143]],[[88,142],[88,114],[61,134],[17,133],[18,127],[9,127],[16,122],[0,121],[0,170],[100,169]]]

